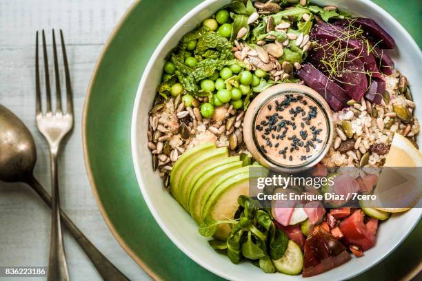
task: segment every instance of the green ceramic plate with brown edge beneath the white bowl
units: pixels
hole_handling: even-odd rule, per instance
[[[135,2],[100,56],[83,113],[86,167],[99,209],[123,249],[157,280],[217,279],[177,249],[151,216],[134,175],[130,148],[132,108],[143,69],[168,30],[200,2]],[[416,3],[409,2],[408,7]],[[160,7],[165,18],[157,17],[152,6]],[[406,17],[412,18],[403,14]],[[162,191],[159,185],[157,191]],[[360,279],[379,278],[380,272],[391,269],[391,278],[403,275],[419,262],[413,247],[420,234],[421,227],[388,260]],[[407,262],[403,263],[403,257]]]

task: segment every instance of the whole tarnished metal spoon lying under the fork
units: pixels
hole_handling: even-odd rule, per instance
[[[37,150],[32,134],[16,115],[0,105],[0,180],[27,183],[51,207],[50,194],[34,178],[36,162]],[[103,256],[62,210],[60,216],[104,280],[129,280]]]

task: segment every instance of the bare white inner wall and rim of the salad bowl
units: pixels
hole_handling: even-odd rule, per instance
[[[370,17],[379,23],[395,39],[398,46],[392,55],[396,68],[405,74],[414,92],[416,104],[422,105],[421,97],[417,91],[422,88],[421,70],[422,54],[408,32],[397,23],[387,12],[370,1],[364,0],[339,0],[339,1],[312,1],[319,5],[333,4],[346,11],[353,11],[355,16]],[[230,0],[208,0],[191,10],[183,17],[158,45],[152,55],[137,92],[132,118],[132,154],[134,167],[139,186],[145,201],[155,220],[165,231],[167,236],[186,253],[192,260],[201,264],[206,269],[229,280],[299,280],[301,276],[281,274],[265,274],[261,269],[254,267],[250,262],[232,264],[230,260],[209,247],[198,233],[198,226],[190,215],[181,207],[170,192],[162,188],[161,179],[152,171],[152,159],[147,147],[146,132],[148,130],[148,111],[156,94],[156,87],[161,80],[165,56],[177,45],[181,37],[197,27],[203,19],[230,3]],[[416,116],[421,119],[421,110],[416,110]],[[419,138],[419,145],[422,141]],[[408,236],[421,216],[421,209],[412,209],[405,214],[392,216],[381,225],[376,245],[365,251],[365,256],[356,259],[341,267],[332,269],[321,275],[307,280],[344,280],[365,271],[388,255],[401,241]],[[399,230],[399,231],[398,231]]]

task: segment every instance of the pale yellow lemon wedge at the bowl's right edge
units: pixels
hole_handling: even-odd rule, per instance
[[[394,134],[394,137],[392,139],[392,144],[390,147],[390,152],[385,157],[384,167],[422,167],[422,154],[403,135]],[[390,169],[390,171],[392,170]],[[375,193],[379,193],[379,195],[381,196],[381,198],[379,199],[383,200],[382,197],[387,196],[387,194],[389,195],[388,197],[392,195],[399,196],[399,194],[404,195],[403,193],[401,193],[404,190],[400,190],[400,191],[396,190],[394,191],[394,193],[386,192],[385,194],[383,194],[383,191],[387,189],[388,184],[394,182],[395,179],[393,177],[394,176],[390,174],[389,172],[381,172],[381,175],[379,177],[379,182],[375,191]],[[416,178],[418,177],[416,176]],[[421,179],[419,180],[416,179],[416,184],[418,183],[420,184],[421,183],[420,180]],[[385,189],[383,187],[385,187]],[[390,201],[384,201],[384,202],[390,202]],[[407,211],[410,208],[374,208],[374,209],[378,209],[380,211],[388,211],[390,213],[399,213],[402,211]]]

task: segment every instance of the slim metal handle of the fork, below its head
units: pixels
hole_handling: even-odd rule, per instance
[[[48,260],[48,281],[69,281],[68,263],[63,245],[63,233],[61,232],[59,180],[57,178],[57,149],[50,152],[51,166],[51,240],[50,258]]]

